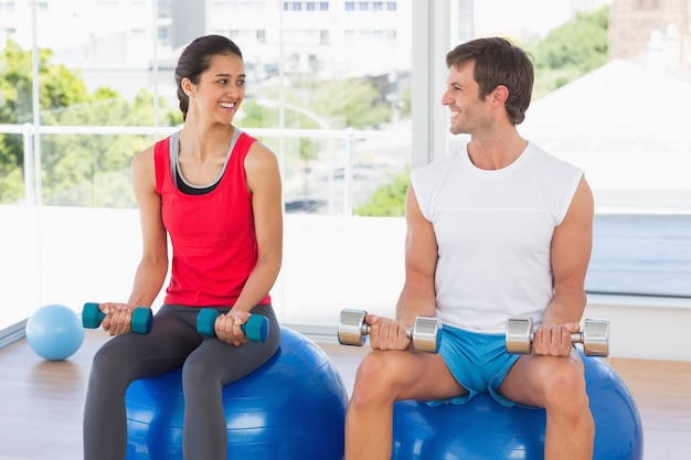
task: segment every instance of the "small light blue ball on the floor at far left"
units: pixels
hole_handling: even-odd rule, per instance
[[[61,304],[41,307],[26,321],[26,342],[47,361],[63,361],[79,350],[84,328],[77,313]]]

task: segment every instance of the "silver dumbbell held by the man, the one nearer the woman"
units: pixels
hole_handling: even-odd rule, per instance
[[[366,311],[346,309],[338,321],[338,341],[341,345],[362,346],[370,334],[370,324],[364,322]],[[413,328],[405,333],[413,340],[416,352],[437,353],[442,341],[442,321],[434,317],[417,317]]]

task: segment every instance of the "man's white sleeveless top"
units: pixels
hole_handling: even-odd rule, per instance
[[[445,324],[503,333],[509,317],[542,322],[554,292],[552,234],[582,176],[534,143],[500,170],[476,168],[464,147],[412,172],[437,238],[436,302]]]

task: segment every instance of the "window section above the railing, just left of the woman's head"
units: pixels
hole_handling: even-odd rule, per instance
[[[152,1],[50,1],[36,14],[41,124],[153,126]]]

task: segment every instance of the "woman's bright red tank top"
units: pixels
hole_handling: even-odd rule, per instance
[[[170,168],[170,138],[156,143],[156,189],[172,243],[164,303],[232,307],[257,263],[244,161],[255,139],[241,133],[214,190],[182,193]],[[259,303],[270,303],[266,297]]]

